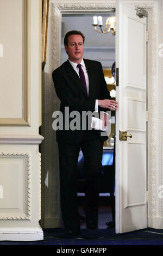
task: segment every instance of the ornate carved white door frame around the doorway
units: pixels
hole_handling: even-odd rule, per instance
[[[163,228],[163,200],[158,196],[159,186],[163,185],[162,174],[162,148],[161,148],[161,116],[162,116],[162,91],[161,91],[161,58],[159,57],[159,44],[161,44],[161,5],[160,0],[153,1],[126,1],[127,4],[135,5],[135,7],[144,7],[149,12],[148,17],[148,227]],[[60,65],[61,60],[61,16],[62,13],[99,13],[107,12],[110,8],[116,7],[116,1],[49,1],[49,23],[48,23],[48,39],[47,39],[47,63],[45,66],[45,115],[46,124],[45,130],[49,129],[51,132],[51,140],[45,143],[46,154],[42,155],[43,161],[48,163],[49,155],[48,149],[52,149],[52,157],[54,162],[51,163],[51,169],[48,168],[49,175],[51,175],[51,182],[49,182],[49,194],[43,190],[43,214],[45,227],[59,227],[60,211],[59,196],[59,168],[58,168],[58,151],[56,149],[57,143],[54,138],[54,131],[52,131],[52,115],[49,113],[49,106],[54,110],[59,108],[59,101],[57,97],[51,96],[49,100],[48,95],[55,95],[52,82],[52,71]],[[52,114],[52,113],[51,113]],[[49,127],[48,127],[49,126]],[[45,136],[44,136],[45,137]],[[46,137],[45,137],[46,139]],[[55,149],[54,147],[55,146]],[[45,166],[46,168],[46,166]],[[54,175],[55,170],[55,175]],[[56,178],[57,177],[57,178]],[[50,180],[50,179],[49,179]],[[58,185],[57,185],[58,184]],[[54,198],[55,197],[55,198]],[[44,203],[45,200],[45,203]],[[55,203],[54,203],[55,200]],[[57,209],[53,209],[57,208]],[[46,210],[45,210],[46,209]]]

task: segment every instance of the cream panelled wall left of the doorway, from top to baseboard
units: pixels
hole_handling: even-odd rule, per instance
[[[41,1],[0,0],[0,240],[40,240]]]

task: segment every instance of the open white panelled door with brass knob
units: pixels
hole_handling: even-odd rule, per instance
[[[117,1],[116,233],[147,227],[146,25],[135,7]]]

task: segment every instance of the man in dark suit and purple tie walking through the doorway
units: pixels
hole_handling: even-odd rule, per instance
[[[102,65],[99,62],[83,59],[85,36],[79,31],[65,35],[64,44],[68,60],[53,71],[53,82],[59,97],[60,112],[63,115],[63,130],[57,130],[60,165],[61,213],[66,234],[80,234],[80,221],[77,206],[77,163],[80,148],[83,151],[87,173],[86,182],[86,224],[94,229],[98,222],[98,178],[102,171],[103,142],[108,138],[101,131],[71,129],[67,115],[78,111],[81,126],[87,111],[107,111],[117,109],[117,102],[110,100],[106,88]],[[68,107],[69,113],[65,111]],[[67,113],[67,114],[66,114]],[[106,125],[107,114],[104,114]],[[67,120],[67,121],[66,121]]]

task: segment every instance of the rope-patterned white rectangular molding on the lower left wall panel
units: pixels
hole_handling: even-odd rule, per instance
[[[1,159],[22,159],[24,161],[24,173],[26,175],[26,187],[24,188],[24,205],[25,212],[7,212],[3,214],[0,208],[0,221],[30,221],[30,208],[31,208],[31,187],[30,187],[30,154],[29,153],[0,153]],[[22,209],[21,209],[22,210]],[[24,210],[24,209],[23,209]]]

